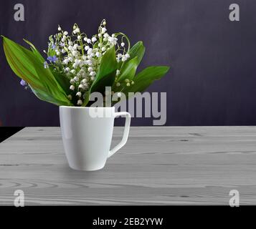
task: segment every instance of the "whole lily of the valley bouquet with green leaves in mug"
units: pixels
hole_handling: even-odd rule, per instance
[[[90,94],[143,92],[154,80],[163,77],[169,67],[152,66],[136,74],[145,47],[143,42],[130,46],[128,36],[108,34],[103,20],[92,37],[73,26],[72,33],[58,27],[49,36],[46,60],[34,45],[31,50],[3,36],[6,59],[21,84],[39,98],[58,106],[90,106]],[[104,95],[105,96],[105,95]]]

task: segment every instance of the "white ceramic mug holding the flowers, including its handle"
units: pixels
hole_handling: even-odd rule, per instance
[[[123,139],[110,150],[115,117],[125,116]],[[93,171],[128,140],[131,115],[115,107],[60,107],[60,127],[65,155],[74,170]]]

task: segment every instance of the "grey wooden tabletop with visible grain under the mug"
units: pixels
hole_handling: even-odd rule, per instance
[[[115,127],[113,145],[123,128]],[[256,204],[256,127],[131,127],[103,170],[68,167],[59,127],[27,127],[0,144],[0,205]]]

